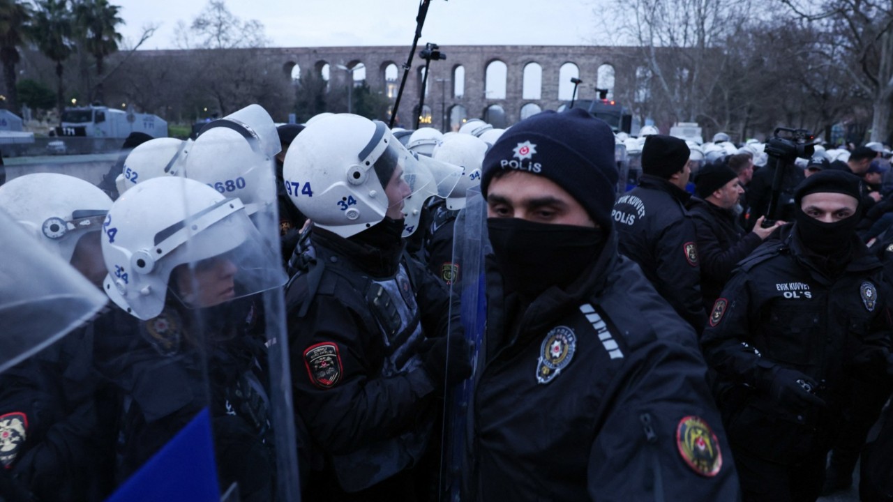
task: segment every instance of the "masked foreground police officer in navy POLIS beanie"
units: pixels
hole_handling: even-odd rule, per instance
[[[613,146],[575,108],[515,124],[484,159],[469,500],[738,499],[695,333],[617,254]]]

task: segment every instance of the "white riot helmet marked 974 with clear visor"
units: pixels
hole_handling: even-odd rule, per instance
[[[289,146],[282,167],[288,197],[313,224],[351,237],[384,220],[385,188],[395,172],[409,186],[403,204],[404,235],[418,225],[431,196],[447,197],[460,167],[416,156],[380,121],[342,113],[313,122]]]

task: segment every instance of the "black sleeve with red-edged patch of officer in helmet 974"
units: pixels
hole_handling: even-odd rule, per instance
[[[329,453],[394,437],[431,406],[434,387],[421,368],[380,376],[367,354],[371,337],[380,335],[337,298],[314,298],[305,317],[288,320],[288,330],[296,412]]]

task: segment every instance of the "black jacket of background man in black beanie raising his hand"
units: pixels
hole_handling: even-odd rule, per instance
[[[692,197],[689,213],[697,232],[701,294],[705,311],[709,312],[735,265],[759,247],[763,239],[753,232],[745,234],[735,213],[703,199]]]

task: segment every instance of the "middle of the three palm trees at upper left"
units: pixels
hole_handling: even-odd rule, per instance
[[[68,8],[68,0],[38,0],[38,10],[31,25],[31,38],[38,43],[40,52],[56,63],[58,90],[56,106],[62,115],[64,103],[63,62],[74,51],[74,16]]]

